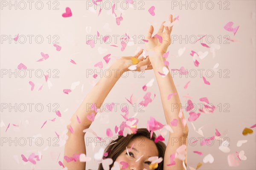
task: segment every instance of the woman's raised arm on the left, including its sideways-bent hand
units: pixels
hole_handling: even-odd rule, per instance
[[[138,58],[142,54],[143,50],[137,53],[137,55],[133,56],[134,58]],[[109,68],[111,71],[111,76],[102,77],[97,84],[91,89],[91,91],[84,98],[84,101],[81,103],[79,108],[76,110],[75,114],[71,117],[71,123],[67,125],[67,136],[68,139],[64,148],[64,156],[72,157],[74,154],[86,154],[85,142],[84,142],[84,133],[83,130],[90,127],[92,123],[87,119],[87,115],[94,112],[94,109],[88,108],[89,104],[95,104],[95,106],[99,109],[107,97],[108,93],[111,91],[113,86],[116,84],[116,81],[122,76],[123,72],[128,71],[128,67],[133,65],[131,62],[132,57],[122,57],[120,59],[116,59],[114,63]],[[137,64],[136,71],[140,71],[140,66],[148,65],[149,59],[139,58],[139,63]],[[147,69],[152,69],[152,66],[148,66]],[[81,123],[77,121],[77,116],[79,117]],[[70,128],[72,127],[72,130]],[[68,170],[85,170],[85,162],[70,161],[67,162],[65,159],[63,160],[64,166],[68,168]]]

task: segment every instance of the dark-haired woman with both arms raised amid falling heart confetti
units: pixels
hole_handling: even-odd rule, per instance
[[[175,20],[175,19],[174,19]],[[172,23],[172,14],[169,15],[169,21]],[[151,52],[152,55],[147,56],[146,59],[139,58],[142,54],[143,50],[137,53],[137,55],[133,56],[134,58],[138,58],[139,63],[137,64],[136,71],[140,71],[141,66],[147,65],[148,67],[145,70],[153,69],[154,74],[157,80],[157,84],[160,90],[161,101],[163,105],[163,110],[166,118],[166,123],[170,125],[170,121],[173,119],[177,119],[177,126],[172,127],[173,133],[169,133],[169,139],[167,142],[167,146],[158,141],[156,144],[154,143],[154,138],[156,137],[153,134],[153,137],[150,138],[150,133],[145,128],[140,128],[137,130],[137,133],[127,135],[126,137],[119,135],[119,138],[115,141],[112,141],[111,144],[106,148],[105,152],[109,152],[108,156],[105,158],[112,158],[113,163],[110,167],[113,166],[114,162],[117,161],[125,161],[128,163],[128,167],[126,169],[129,170],[143,170],[143,169],[157,169],[157,170],[184,170],[186,167],[183,166],[183,162],[186,165],[186,158],[184,161],[174,158],[175,164],[170,166],[171,163],[171,155],[175,154],[176,149],[180,147],[180,144],[186,144],[186,137],[188,135],[188,127],[183,124],[184,115],[180,115],[180,98],[177,94],[177,89],[172,80],[172,75],[169,72],[164,78],[159,72],[163,72],[163,67],[167,67],[164,63],[165,59],[163,54],[166,53],[169,45],[171,44],[171,32],[172,26],[164,26],[163,22],[160,26],[160,29],[157,32],[157,35],[152,37],[154,28],[150,26],[148,30],[148,35],[146,36],[146,50]],[[165,29],[165,31],[164,31]],[[159,37],[162,37],[162,42],[160,43]],[[94,109],[87,109],[87,103],[96,104],[97,108],[100,108],[100,104],[103,103],[106,96],[116,83],[116,81],[121,77],[122,70],[128,71],[128,67],[133,65],[131,62],[132,57],[122,57],[117,59],[113,65],[110,67],[110,70],[118,69],[117,74],[112,72],[112,76],[110,78],[102,77],[99,82],[93,87],[93,89],[88,93],[82,104],[77,109],[76,113],[71,118],[71,123],[67,125],[67,129],[70,129],[70,126],[73,128],[73,133],[68,131],[68,139],[65,144],[64,156],[73,156],[78,153],[85,153],[85,143],[84,143],[84,133],[83,130],[90,127],[92,123],[87,119],[87,115],[91,112],[95,112]],[[168,67],[167,67],[168,68]],[[108,84],[108,86],[106,86]],[[167,100],[169,94],[175,94]],[[177,108],[171,108],[172,104],[177,104]],[[88,112],[87,112],[88,111]],[[95,112],[96,114],[96,112]],[[77,122],[77,116],[81,120],[81,124]],[[180,141],[172,143],[172,138],[178,138]],[[138,140],[139,138],[143,138],[145,144],[143,146],[132,147],[132,144]],[[115,144],[113,144],[116,142]],[[127,148],[129,148],[129,152],[127,152]],[[159,164],[151,164],[151,161],[148,160],[148,157],[158,156],[162,157],[163,161]],[[138,161],[139,160],[139,161]],[[80,161],[70,161],[67,162],[64,159],[64,166],[69,170],[84,170],[85,162]],[[120,168],[122,169],[122,165],[120,164]],[[99,170],[102,170],[102,165],[99,165]]]

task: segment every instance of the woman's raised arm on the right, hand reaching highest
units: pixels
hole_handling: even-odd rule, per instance
[[[169,16],[169,21],[172,23],[172,15]],[[175,165],[167,166],[170,164],[170,156],[174,154],[182,140],[182,144],[186,144],[186,137],[188,135],[188,126],[183,126],[182,119],[184,118],[183,112],[181,118],[179,117],[179,112],[181,108],[180,98],[177,93],[177,89],[172,79],[171,72],[169,72],[165,77],[159,74],[163,73],[163,67],[166,67],[169,70],[169,67],[164,63],[166,58],[163,57],[163,54],[166,53],[168,46],[171,44],[171,32],[172,27],[170,26],[160,26],[160,29],[157,32],[157,35],[163,38],[163,42],[160,43],[156,36],[151,37],[154,31],[153,26],[150,26],[148,31],[147,40],[148,43],[147,51],[154,52],[153,55],[149,55],[149,60],[153,66],[157,84],[160,90],[161,101],[163,105],[164,115],[166,118],[166,123],[170,125],[170,121],[177,119],[177,126],[172,127],[174,133],[169,133],[169,140],[166,147],[166,152],[164,156],[164,170],[183,170],[183,161],[175,158]],[[165,29],[165,32],[163,30]],[[168,95],[173,94],[172,97],[168,100]],[[176,95],[175,95],[176,94]],[[176,138],[178,142],[172,143],[172,138]],[[186,144],[187,146],[187,144]],[[184,160],[186,164],[186,159]]]

